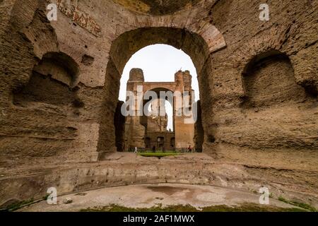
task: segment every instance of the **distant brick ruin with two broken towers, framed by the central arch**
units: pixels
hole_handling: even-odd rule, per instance
[[[158,99],[143,101],[144,105],[149,102],[150,116],[141,115],[130,116],[126,119],[125,123],[125,145],[123,148],[147,148],[152,147],[162,150],[187,150],[187,147],[194,148],[194,121],[193,123],[184,123],[184,119],[189,117],[184,114],[177,114],[178,107],[177,102],[173,100],[173,96],[170,99],[171,105],[173,105],[173,131],[167,131],[167,113],[165,105],[160,105],[160,100],[165,102],[168,97],[166,92],[173,93],[179,92],[183,94],[188,92],[189,94],[189,106],[192,106],[194,102],[194,90],[191,86],[192,76],[189,71],[178,71],[175,74],[175,82],[145,82],[143,78],[143,71],[141,69],[132,69],[130,72],[129,81],[127,82],[127,91],[133,93],[138,92],[138,86],[142,89],[143,95],[147,95],[148,91],[156,93]],[[160,92],[165,93],[165,97],[160,98]],[[180,100],[183,101],[183,100]],[[191,104],[190,104],[191,103]],[[136,111],[138,111],[138,102],[134,104]],[[144,105],[141,108],[144,108]],[[182,109],[180,109],[182,110]],[[163,114],[160,114],[163,112]],[[118,112],[119,114],[119,112]],[[120,145],[122,147],[122,145]],[[200,149],[200,148],[198,148]]]

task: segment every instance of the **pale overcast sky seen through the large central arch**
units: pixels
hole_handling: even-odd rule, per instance
[[[126,100],[126,83],[129,71],[134,68],[143,70],[146,82],[168,82],[175,80],[175,73],[190,71],[192,75],[192,89],[196,100],[199,100],[199,85],[196,78],[196,69],[192,59],[181,49],[167,44],[153,44],[136,52],[127,62],[120,81],[119,100]],[[168,114],[168,129],[172,129],[172,107],[166,104]]]

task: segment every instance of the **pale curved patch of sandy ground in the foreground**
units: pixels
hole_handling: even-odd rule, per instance
[[[259,204],[259,197],[260,194],[216,186],[140,184],[59,196],[57,205],[49,205],[46,201],[41,201],[19,211],[78,211],[111,204],[129,208],[151,208],[158,204],[163,207],[189,204],[200,209],[206,206],[240,206],[242,203]],[[67,198],[71,199],[72,203],[65,204],[64,201]],[[273,198],[270,198],[270,206],[295,207]]]

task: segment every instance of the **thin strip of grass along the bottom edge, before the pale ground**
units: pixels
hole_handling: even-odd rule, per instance
[[[95,207],[82,209],[81,212],[304,212],[300,208],[278,208],[273,206],[260,206],[252,203],[245,203],[242,206],[208,206],[197,210],[193,206],[178,205],[153,206],[151,208],[127,208],[124,206],[110,205],[104,207]]]

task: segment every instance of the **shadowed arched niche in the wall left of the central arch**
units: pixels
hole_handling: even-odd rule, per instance
[[[78,73],[78,65],[71,57],[61,52],[49,52],[33,68],[28,83],[13,91],[13,104],[83,107],[83,102],[76,97]]]

